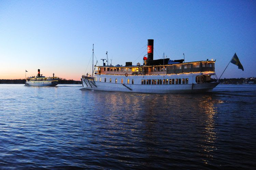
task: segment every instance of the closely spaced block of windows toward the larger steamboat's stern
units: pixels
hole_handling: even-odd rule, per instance
[[[188,84],[188,78],[183,79],[143,79],[141,84]]]

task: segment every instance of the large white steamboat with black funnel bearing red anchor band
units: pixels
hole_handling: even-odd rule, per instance
[[[148,39],[147,57],[144,64],[125,66],[97,66],[92,75],[82,75],[83,88],[89,90],[124,91],[143,93],[201,93],[211,92],[218,82],[213,81],[215,61],[184,60],[169,58],[153,60],[154,40]],[[94,53],[94,52],[93,52]],[[94,68],[95,69],[95,68]]]

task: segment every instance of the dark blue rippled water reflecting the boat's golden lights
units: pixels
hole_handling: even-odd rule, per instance
[[[0,85],[0,169],[213,169],[256,164],[256,85],[137,94]]]

